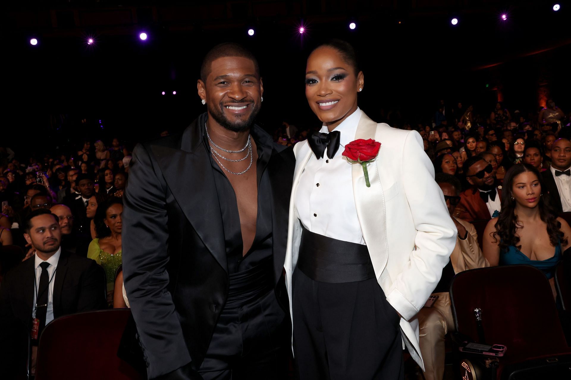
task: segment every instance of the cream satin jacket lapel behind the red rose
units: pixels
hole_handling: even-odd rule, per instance
[[[355,140],[375,139],[377,137],[376,132],[377,123],[363,113],[357,126]],[[381,145],[377,159],[381,156],[382,150],[383,147]],[[363,238],[367,243],[377,280],[379,280],[388,260],[387,214],[379,169],[376,162],[368,164],[367,169],[371,187],[367,187],[363,167],[359,164],[353,164],[352,166],[353,196],[355,197],[357,217],[359,217],[361,232],[363,232]],[[371,204],[378,204],[380,207],[371,207]]]

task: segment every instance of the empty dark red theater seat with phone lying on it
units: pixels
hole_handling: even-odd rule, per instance
[[[466,270],[452,280],[450,296],[457,332],[475,342],[508,347],[497,363],[497,378],[533,378],[532,371],[544,378],[552,373],[571,378],[571,348],[540,270],[529,265]],[[478,338],[475,308],[482,310],[485,341]],[[516,371],[518,377],[512,377]]]

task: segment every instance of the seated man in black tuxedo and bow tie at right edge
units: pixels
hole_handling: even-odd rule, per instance
[[[542,172],[549,200],[558,212],[571,211],[571,142],[561,138],[551,147],[551,166]]]

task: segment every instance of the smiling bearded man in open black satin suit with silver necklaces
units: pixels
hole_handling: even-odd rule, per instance
[[[295,158],[254,124],[263,85],[242,46],[208,52],[198,94],[208,112],[182,135],[135,148],[123,196],[123,278],[148,378],[283,378]]]

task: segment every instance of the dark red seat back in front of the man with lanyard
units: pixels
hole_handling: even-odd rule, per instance
[[[129,309],[109,309],[51,321],[40,337],[35,379],[142,379],[117,357],[130,315]]]

